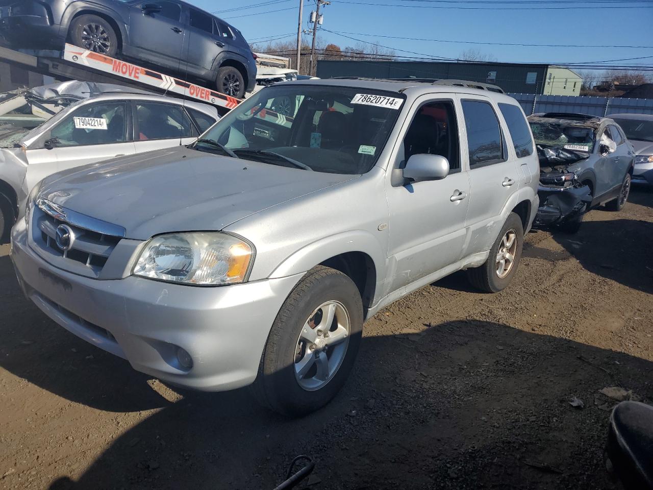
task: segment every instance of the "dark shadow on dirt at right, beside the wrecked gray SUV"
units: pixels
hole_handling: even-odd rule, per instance
[[[575,235],[553,233],[552,236],[593,274],[653,293],[653,261],[650,259],[653,223],[643,220],[584,221]],[[540,252],[545,251],[535,251],[538,256]]]

